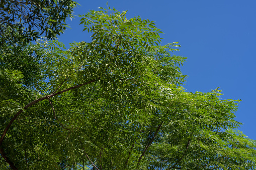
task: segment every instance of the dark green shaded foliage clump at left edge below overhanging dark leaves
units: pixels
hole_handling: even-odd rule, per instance
[[[39,44],[20,40],[0,47],[0,70],[8,69],[22,73],[21,83],[32,88],[42,78],[44,52]]]

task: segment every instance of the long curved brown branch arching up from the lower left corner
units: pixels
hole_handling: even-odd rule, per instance
[[[100,79],[100,78],[99,78]],[[17,167],[14,165],[14,163],[6,156],[6,153],[4,152],[4,149],[2,148],[2,143],[4,141],[4,138],[6,136],[6,133],[7,131],[9,130],[10,126],[13,124],[14,120],[17,119],[17,117],[24,111],[26,110],[27,108],[29,108],[30,106],[33,106],[34,104],[40,102],[40,101],[43,101],[45,99],[49,99],[53,96],[56,96],[56,95],[59,95],[61,93],[64,93],[64,92],[67,92],[69,90],[72,90],[72,89],[75,89],[75,88],[78,88],[78,87],[81,87],[81,86],[84,86],[84,85],[87,85],[87,84],[90,84],[90,83],[93,83],[93,82],[96,82],[97,80],[99,79],[94,79],[94,80],[91,80],[89,82],[86,82],[86,83],[83,83],[83,84],[78,84],[76,86],[73,86],[73,87],[70,87],[68,89],[65,89],[65,90],[62,90],[62,91],[59,91],[57,93],[54,93],[54,94],[50,94],[50,95],[47,95],[45,97],[42,97],[42,98],[39,98],[39,99],[36,99],[34,101],[32,101],[31,103],[27,104],[25,107],[23,107],[23,109],[21,109],[20,111],[18,111],[18,113],[15,114],[15,116],[11,119],[11,121],[8,123],[8,125],[6,126],[3,134],[1,135],[1,138],[0,138],[0,153],[2,155],[2,157],[6,160],[6,162],[13,168],[13,169],[17,169]],[[56,91],[56,90],[55,90]]]

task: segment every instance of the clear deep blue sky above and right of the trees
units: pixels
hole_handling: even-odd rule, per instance
[[[107,1],[77,1],[74,15],[82,15]],[[208,92],[220,87],[223,99],[242,99],[236,120],[239,130],[256,140],[256,1],[151,1],[108,0],[108,6],[126,11],[127,17],[140,16],[156,22],[164,33],[162,45],[180,42],[177,55],[188,58],[182,72],[189,75],[184,88],[189,92]],[[59,37],[66,46],[72,42],[89,42],[88,32],[81,32],[79,17],[67,23]]]

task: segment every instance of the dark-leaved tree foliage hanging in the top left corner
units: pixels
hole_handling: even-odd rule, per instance
[[[65,20],[73,17],[76,4],[72,0],[1,0],[1,45],[10,36],[15,42],[24,38],[27,41],[36,40],[43,33],[47,39],[56,38],[66,29]]]

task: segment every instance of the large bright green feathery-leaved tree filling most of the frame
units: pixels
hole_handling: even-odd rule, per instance
[[[33,88],[19,83],[21,72],[0,74],[12,84],[0,84],[10,96],[0,103],[0,167],[253,169],[256,143],[235,130],[239,100],[218,88],[185,92],[186,58],[172,55],[180,45],[159,45],[154,22],[125,15],[81,16],[92,42],[68,50],[37,43],[45,79]]]

